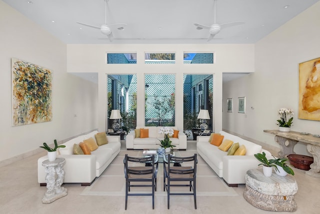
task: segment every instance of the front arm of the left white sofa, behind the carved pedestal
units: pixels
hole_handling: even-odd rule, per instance
[[[63,165],[63,183],[90,183],[95,178],[95,155],[57,155],[65,158]],[[45,172],[42,162],[47,156],[38,159],[38,183],[45,183]]]

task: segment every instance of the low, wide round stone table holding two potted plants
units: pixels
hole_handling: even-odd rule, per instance
[[[245,175],[243,197],[251,205],[270,211],[295,211],[294,194],[298,191],[291,175],[279,176],[274,172],[270,177],[262,169],[249,169]]]

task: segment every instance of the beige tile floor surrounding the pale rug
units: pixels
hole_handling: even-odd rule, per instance
[[[195,142],[188,142],[187,148],[196,150]],[[121,149],[125,149],[125,143],[121,143]],[[124,196],[80,195],[85,188],[80,184],[64,184],[68,190],[65,197],[43,204],[46,187],[37,183],[36,167],[43,155],[45,152],[0,167],[0,213],[274,213],[246,202],[242,196],[244,185],[233,187],[238,196],[197,196],[196,210],[191,196],[172,196],[170,209],[166,208],[166,196],[156,196],[154,210],[149,196],[130,197],[124,210]],[[294,213],[320,213],[320,177],[307,176],[299,169],[294,172],[299,188]]]

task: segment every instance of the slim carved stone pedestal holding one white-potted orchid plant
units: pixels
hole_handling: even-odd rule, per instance
[[[62,187],[63,183],[63,163],[64,158],[56,158],[54,161],[44,160],[42,166],[45,167],[44,172],[46,182],[46,192],[42,198],[42,203],[51,203],[52,201],[67,195],[67,189]]]

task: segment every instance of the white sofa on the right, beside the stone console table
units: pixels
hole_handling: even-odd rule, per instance
[[[271,153],[253,142],[244,140],[238,136],[224,131],[219,132],[224,136],[223,140],[232,140],[233,143],[244,145],[245,155],[226,155],[227,152],[221,151],[217,146],[211,145],[209,136],[197,136],[197,153],[207,162],[213,171],[222,177],[228,186],[237,186],[244,184],[244,176],[247,170],[257,168],[260,163],[254,154],[265,152],[267,158],[272,158]]]

